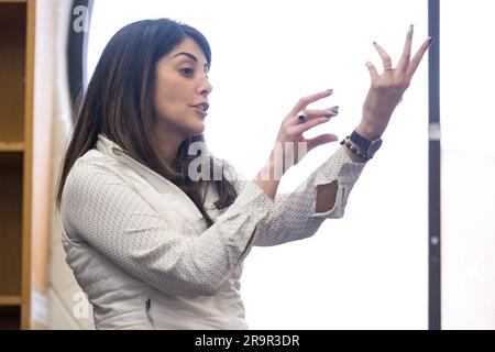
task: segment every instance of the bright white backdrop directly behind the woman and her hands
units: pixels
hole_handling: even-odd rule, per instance
[[[210,148],[254,176],[282,119],[306,95],[333,88],[312,107],[340,106],[323,131],[344,138],[359,123],[372,42],[395,64],[409,24],[414,50],[427,37],[427,1],[95,1],[92,72],[111,35],[129,22],[168,16],[200,30],[212,47]],[[428,327],[427,59],[349,200],[345,217],[316,237],[245,262],[242,294],[252,329],[426,329]],[[284,176],[288,191],[330,156],[312,151]]]

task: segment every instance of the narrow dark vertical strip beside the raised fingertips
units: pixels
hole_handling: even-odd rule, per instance
[[[440,0],[428,0],[428,328],[441,330]]]

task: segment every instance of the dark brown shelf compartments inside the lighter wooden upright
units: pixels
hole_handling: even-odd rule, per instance
[[[0,329],[19,329],[23,289],[26,2],[0,1]]]

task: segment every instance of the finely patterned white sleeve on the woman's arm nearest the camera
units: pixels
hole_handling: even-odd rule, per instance
[[[62,199],[64,231],[134,277],[174,296],[215,295],[273,207],[254,183],[200,235],[178,233],[105,165],[77,162]]]

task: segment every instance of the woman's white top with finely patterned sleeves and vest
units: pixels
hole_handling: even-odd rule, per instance
[[[246,329],[240,278],[251,246],[305,239],[342,217],[364,167],[339,148],[272,200],[224,165],[239,196],[219,211],[209,187],[207,228],[184,191],[105,136],[77,160],[62,197],[63,244],[97,329]],[[336,205],[316,213],[316,187],[333,180]]]

